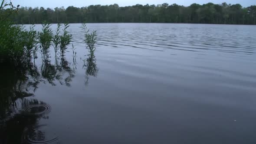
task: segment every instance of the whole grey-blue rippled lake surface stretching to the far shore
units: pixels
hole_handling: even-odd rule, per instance
[[[0,144],[256,144],[256,26],[88,24],[92,62],[79,26],[75,59],[1,68]]]

